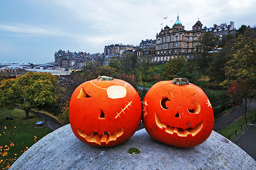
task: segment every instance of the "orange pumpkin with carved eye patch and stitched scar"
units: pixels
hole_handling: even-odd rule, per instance
[[[99,76],[80,84],[70,99],[69,119],[78,139],[96,147],[123,143],[138,128],[141,102],[123,80]]]

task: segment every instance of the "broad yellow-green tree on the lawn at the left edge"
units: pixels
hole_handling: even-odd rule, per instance
[[[50,73],[27,72],[0,84],[1,104],[21,104],[28,119],[32,107],[51,106],[57,101],[57,79]]]

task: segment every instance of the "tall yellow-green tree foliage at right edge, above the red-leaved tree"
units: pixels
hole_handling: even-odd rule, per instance
[[[232,80],[247,80],[250,88],[256,88],[256,28],[248,27],[238,36],[236,52],[224,68],[226,80],[223,86],[230,86]]]

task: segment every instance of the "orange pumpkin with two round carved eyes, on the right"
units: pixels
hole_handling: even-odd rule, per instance
[[[143,102],[143,123],[156,141],[175,147],[204,142],[214,125],[206,94],[186,78],[161,81],[148,90]]]

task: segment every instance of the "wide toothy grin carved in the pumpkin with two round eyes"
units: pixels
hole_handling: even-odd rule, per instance
[[[202,129],[202,126],[204,123],[203,121],[201,121],[194,128],[182,129],[182,128],[177,128],[177,127],[170,127],[166,123],[161,123],[160,118],[156,112],[155,112],[155,119],[156,119],[156,124],[158,125],[158,127],[160,127],[161,129],[163,129],[163,127],[164,127],[165,131],[167,133],[170,133],[170,134],[177,133],[178,136],[181,136],[181,137],[186,137],[188,135],[192,135],[192,136],[196,135]]]

